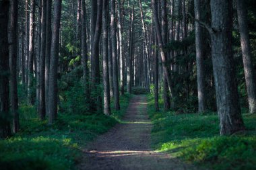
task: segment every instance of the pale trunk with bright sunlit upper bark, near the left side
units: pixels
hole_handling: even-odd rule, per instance
[[[28,44],[28,104],[32,105],[32,86],[33,86],[33,58],[34,58],[34,28],[35,28],[35,0],[30,1],[30,35],[29,35],[29,44]]]

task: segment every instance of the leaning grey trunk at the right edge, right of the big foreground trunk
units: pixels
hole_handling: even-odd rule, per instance
[[[241,48],[243,54],[243,64],[245,69],[245,82],[247,85],[247,95],[250,113],[256,113],[256,82],[253,70],[253,60],[251,58],[251,46],[249,40],[247,8],[245,1],[236,0],[239,31],[241,36]]]

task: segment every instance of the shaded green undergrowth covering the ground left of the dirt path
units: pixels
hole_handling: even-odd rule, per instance
[[[112,116],[75,110],[60,112],[51,126],[46,120],[38,120],[34,107],[20,105],[20,132],[0,140],[1,169],[75,169],[82,148],[119,122],[129,98],[121,96],[121,110]]]

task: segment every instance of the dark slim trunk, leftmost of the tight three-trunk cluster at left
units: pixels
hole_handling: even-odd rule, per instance
[[[39,118],[45,118],[45,50],[46,50],[46,0],[42,0],[41,19],[41,49],[40,49],[40,91],[39,91]]]

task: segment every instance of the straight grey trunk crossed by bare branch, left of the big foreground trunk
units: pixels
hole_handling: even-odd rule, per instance
[[[195,0],[195,19],[201,19],[201,0]],[[205,80],[203,69],[203,39],[202,29],[198,22],[195,22],[195,50],[197,60],[197,96],[198,112],[205,112]]]

